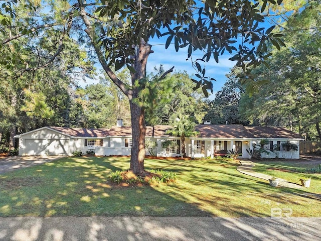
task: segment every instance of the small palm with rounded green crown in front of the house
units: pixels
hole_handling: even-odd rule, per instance
[[[181,137],[181,153],[186,156],[186,137],[195,137],[199,134],[199,132],[195,131],[195,122],[192,117],[184,114],[179,114],[177,118],[172,122],[173,128],[168,130],[167,133]]]

